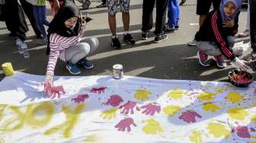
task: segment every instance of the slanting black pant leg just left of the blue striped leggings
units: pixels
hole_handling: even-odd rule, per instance
[[[37,25],[37,21],[33,14],[33,5],[27,2],[26,0],[21,0],[20,2],[21,7],[23,8],[25,14],[27,15],[28,20],[30,21],[34,33],[37,35],[37,37],[41,37],[41,31]]]

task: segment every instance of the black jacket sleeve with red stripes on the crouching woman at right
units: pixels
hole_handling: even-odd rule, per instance
[[[222,22],[222,21],[221,21]],[[224,56],[226,56],[227,59],[235,59],[235,56],[232,54],[232,52],[227,47],[227,41],[226,38],[222,32],[222,24],[218,21],[218,12],[214,12],[211,17],[211,26],[213,29],[214,38],[216,40],[216,44],[219,47],[220,51]]]

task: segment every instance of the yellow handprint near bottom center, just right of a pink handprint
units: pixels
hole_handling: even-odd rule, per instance
[[[156,134],[157,132],[163,132],[164,129],[160,126],[159,122],[155,121],[155,119],[143,120],[142,122],[147,122],[148,124],[143,127],[143,132],[146,134]]]

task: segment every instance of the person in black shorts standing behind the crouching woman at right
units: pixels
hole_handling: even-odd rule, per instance
[[[210,7],[213,3],[213,9],[219,8],[219,3],[221,0],[197,0],[197,15],[199,15],[199,27],[202,26],[207,14],[210,11]],[[196,46],[197,43],[193,39],[187,43],[188,46]]]

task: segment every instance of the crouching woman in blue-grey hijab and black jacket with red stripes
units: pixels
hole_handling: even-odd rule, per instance
[[[208,56],[214,56],[217,66],[225,68],[226,62],[222,59],[222,55],[232,60],[232,64],[241,70],[247,70],[249,67],[246,62],[235,57],[233,53],[238,49],[229,49],[232,47],[232,38],[238,29],[238,14],[240,12],[241,0],[222,0],[219,9],[215,9],[206,16],[200,30],[195,36],[198,47],[198,58],[200,65],[210,66]],[[228,25],[232,25],[229,27]],[[232,53],[233,52],[233,53]]]

